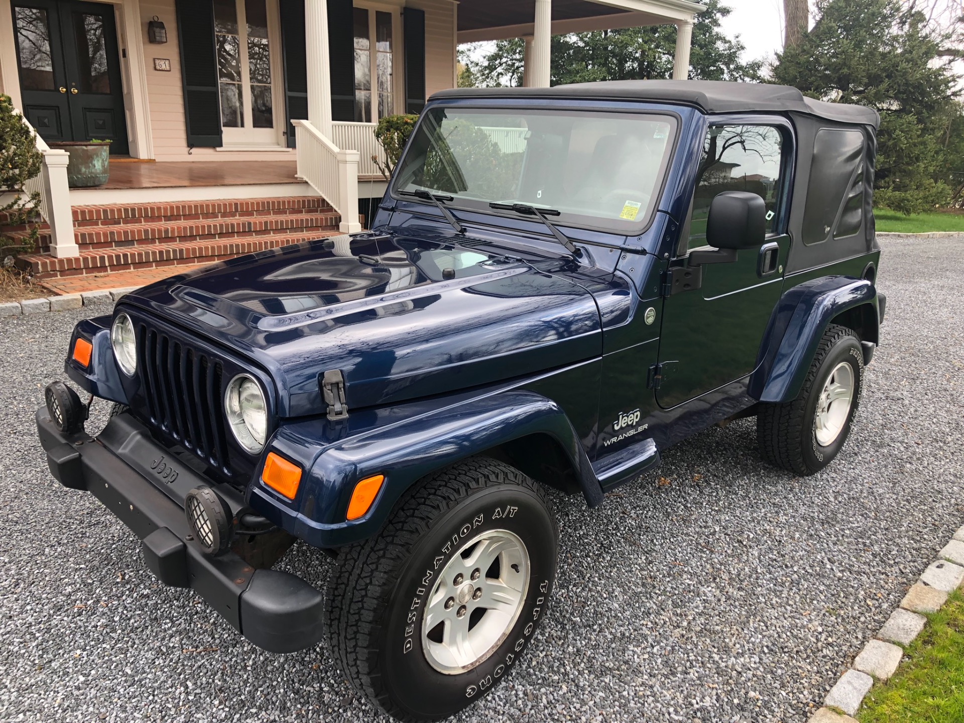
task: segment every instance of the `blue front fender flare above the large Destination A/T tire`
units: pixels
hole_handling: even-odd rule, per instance
[[[282,427],[269,448],[299,459],[308,427]],[[398,499],[419,479],[473,454],[532,434],[549,435],[564,450],[590,507],[603,502],[603,488],[565,412],[531,391],[504,391],[443,407],[325,446],[309,469],[293,504],[259,482],[251,487],[254,509],[315,547],[336,547],[375,534]],[[317,449],[317,447],[315,447]],[[307,461],[306,461],[307,462]],[[347,522],[355,484],[384,474],[385,484],[368,513]]]

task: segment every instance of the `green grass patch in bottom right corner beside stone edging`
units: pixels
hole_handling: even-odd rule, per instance
[[[964,598],[954,593],[927,617],[894,677],[870,689],[860,723],[964,721]]]

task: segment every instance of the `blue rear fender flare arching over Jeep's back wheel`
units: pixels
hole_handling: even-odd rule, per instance
[[[879,324],[877,290],[865,279],[823,277],[790,288],[770,316],[747,393],[761,402],[795,399],[831,320],[865,304],[873,307]]]

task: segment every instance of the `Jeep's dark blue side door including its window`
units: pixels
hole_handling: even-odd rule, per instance
[[[671,268],[685,267],[690,251],[707,247],[710,203],[724,191],[762,196],[767,233],[762,247],[739,251],[735,261],[700,266],[698,287],[666,298],[659,365],[651,373],[663,409],[746,377],[756,366],[790,250],[784,229],[791,139],[790,126],[782,120],[710,125],[691,212]]]

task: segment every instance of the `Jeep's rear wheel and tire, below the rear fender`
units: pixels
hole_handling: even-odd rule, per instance
[[[829,465],[850,434],[863,381],[860,338],[831,324],[796,399],[760,405],[757,440],[763,460],[800,475]]]

